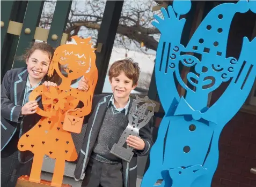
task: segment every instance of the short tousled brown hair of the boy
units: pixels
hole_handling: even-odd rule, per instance
[[[140,67],[138,67],[138,63],[134,63],[133,59],[126,58],[115,61],[108,71],[109,80],[112,80],[113,77],[119,76],[122,71],[129,79],[133,80],[133,86],[138,83]]]

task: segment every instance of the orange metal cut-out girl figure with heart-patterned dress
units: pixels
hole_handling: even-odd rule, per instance
[[[30,95],[30,100],[41,97],[43,110],[38,108],[36,113],[42,116],[35,126],[24,134],[18,143],[20,151],[34,153],[30,181],[40,183],[43,158],[48,155],[56,160],[52,179],[52,186],[61,186],[65,160],[75,161],[77,152],[70,131],[79,133],[83,118],[91,112],[93,92],[98,79],[95,64],[96,54],[90,43],[90,38],[72,37],[77,44],[58,46],[54,52],[48,75],[56,71],[62,82],[58,87],[39,86]],[[67,75],[60,71],[64,65]],[[71,88],[71,81],[84,76],[89,80],[87,92]],[[83,103],[81,108],[78,103]],[[24,124],[25,125],[25,124]],[[64,130],[66,127],[66,131]],[[80,127],[81,128],[81,127]]]

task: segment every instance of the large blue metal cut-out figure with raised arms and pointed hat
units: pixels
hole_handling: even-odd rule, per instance
[[[142,187],[209,187],[218,164],[218,139],[226,123],[245,102],[256,75],[256,38],[243,39],[239,59],[226,57],[229,29],[235,13],[256,13],[255,1],[239,1],[216,6],[203,19],[187,46],[180,44],[186,19],[180,15],[191,9],[190,1],[174,1],[164,19],[152,22],[161,33],[156,55],[156,84],[165,116],[150,153],[150,166]],[[179,66],[194,67],[187,80]],[[174,77],[186,90],[180,97]],[[217,102],[207,107],[208,95],[230,81]]]

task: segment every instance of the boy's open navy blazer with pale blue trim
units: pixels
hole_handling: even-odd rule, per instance
[[[78,155],[77,165],[74,173],[75,180],[82,178],[87,163],[89,162],[90,155],[92,153],[94,144],[99,134],[101,124],[104,119],[104,115],[107,110],[107,105],[112,95],[95,95],[92,100],[92,112],[86,116],[85,123],[87,122],[87,128],[84,136],[83,145]],[[129,110],[133,99],[130,99]],[[129,112],[128,112],[129,113]],[[136,186],[137,180],[137,155],[149,154],[152,147],[152,134],[150,128],[152,127],[153,119],[149,123],[140,129],[140,137],[145,142],[144,151],[136,151],[130,162],[123,161],[123,183],[125,187]],[[128,114],[126,116],[126,126],[128,125]],[[126,146],[126,145],[125,145]],[[86,174],[85,174],[86,175]]]

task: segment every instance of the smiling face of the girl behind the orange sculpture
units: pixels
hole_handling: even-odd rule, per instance
[[[27,71],[30,79],[41,81],[46,76],[50,65],[50,59],[47,52],[35,50],[30,58],[26,60]]]

